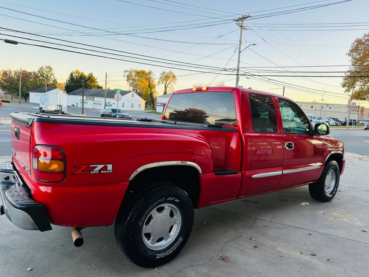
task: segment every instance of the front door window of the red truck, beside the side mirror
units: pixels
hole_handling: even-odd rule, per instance
[[[310,134],[310,123],[303,111],[296,104],[278,99],[282,116],[283,133]]]

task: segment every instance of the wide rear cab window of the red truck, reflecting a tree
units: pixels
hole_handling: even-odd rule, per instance
[[[207,91],[173,94],[163,119],[237,126],[234,95]]]

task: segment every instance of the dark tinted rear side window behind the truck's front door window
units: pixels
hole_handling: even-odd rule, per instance
[[[276,133],[277,120],[272,98],[250,94],[249,100],[254,131],[259,133]]]

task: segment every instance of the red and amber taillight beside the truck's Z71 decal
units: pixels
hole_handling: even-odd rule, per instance
[[[66,177],[64,152],[52,145],[36,145],[32,154],[33,174],[37,181],[45,183],[61,182]]]

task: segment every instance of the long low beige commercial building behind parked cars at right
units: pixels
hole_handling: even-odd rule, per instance
[[[330,103],[314,103],[314,102],[296,102],[301,109],[310,116],[336,117],[347,120],[349,105],[330,104]],[[354,106],[353,106],[354,107]],[[359,106],[355,106],[355,110],[351,110],[350,119],[358,119]]]

